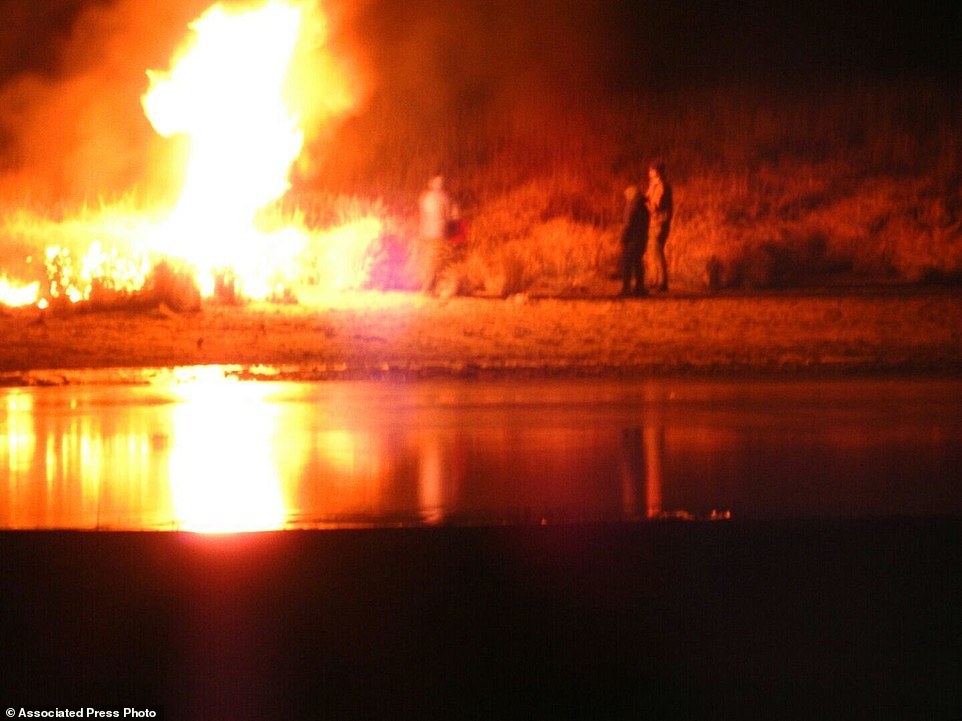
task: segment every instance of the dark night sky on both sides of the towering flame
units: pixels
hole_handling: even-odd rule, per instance
[[[59,53],[78,13],[123,4],[0,0],[0,78],[62,71]],[[351,7],[350,22],[387,74],[391,58],[404,65],[403,53],[429,48],[467,74],[537,64],[614,83],[962,67],[962,6],[941,1],[353,0]]]

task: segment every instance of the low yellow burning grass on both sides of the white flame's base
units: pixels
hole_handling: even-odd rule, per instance
[[[377,273],[386,272],[379,266],[399,262],[395,256],[385,257],[385,226],[378,212],[377,203],[344,199],[326,210],[317,201],[309,211],[278,205],[263,211],[258,221],[266,229],[264,248],[285,232],[303,242],[286,267],[265,259],[264,267],[272,269],[266,278],[273,285],[259,298],[292,302],[298,295],[370,285],[372,276],[376,280]],[[334,224],[319,227],[322,221]],[[177,311],[196,310],[202,297],[196,266],[142,244],[163,223],[160,213],[141,210],[130,200],[85,206],[59,218],[15,208],[0,225],[4,245],[16,258],[0,276],[0,304],[62,308],[79,303],[109,310],[163,303]],[[195,239],[204,241],[203,236]],[[228,261],[213,264],[210,271],[203,295],[218,302],[251,300]]]

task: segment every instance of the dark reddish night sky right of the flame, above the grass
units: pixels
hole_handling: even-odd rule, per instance
[[[945,5],[945,7],[943,7]],[[468,90],[520,78],[644,90],[762,77],[962,70],[962,6],[920,0],[369,0],[355,26],[382,77]]]

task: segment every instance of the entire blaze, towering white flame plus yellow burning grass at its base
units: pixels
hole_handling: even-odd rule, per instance
[[[148,71],[142,98],[157,133],[186,147],[172,153],[183,166],[173,207],[128,203],[59,220],[7,220],[7,232],[42,238],[44,251],[28,259],[33,277],[0,275],[0,303],[43,307],[88,300],[98,289],[136,293],[161,262],[189,273],[203,297],[225,284],[249,299],[362,285],[363,259],[382,235],[378,217],[319,229],[277,202],[289,190],[304,123],[323,115],[319,95],[329,115],[351,102],[344,75],[318,52],[324,30],[316,2],[209,8],[171,67]]]

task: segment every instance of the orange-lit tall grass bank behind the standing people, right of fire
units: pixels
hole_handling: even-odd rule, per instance
[[[745,83],[578,103],[533,95],[427,119],[375,102],[345,129],[350,142],[319,185],[377,194],[410,248],[417,194],[444,172],[470,224],[468,250],[448,270],[460,292],[612,282],[622,190],[645,182],[656,154],[675,189],[676,288],[956,281],[958,91],[921,80]]]

